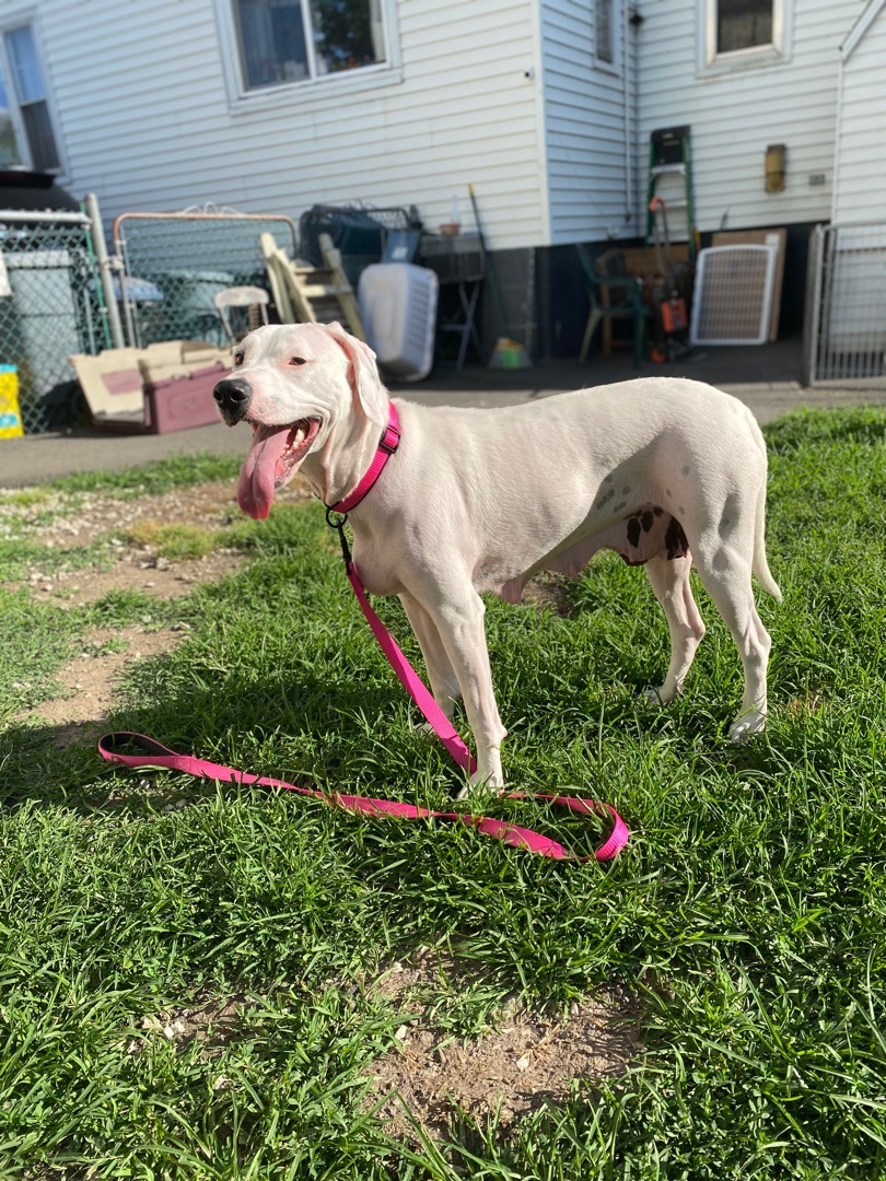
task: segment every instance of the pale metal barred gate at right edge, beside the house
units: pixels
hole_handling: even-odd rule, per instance
[[[813,230],[803,384],[886,389],[886,222]]]

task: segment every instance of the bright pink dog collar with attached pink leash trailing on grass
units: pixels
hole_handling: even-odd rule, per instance
[[[452,723],[434,700],[434,697],[400,651],[397,641],[370,605],[366,590],[354,569],[347,537],[345,536],[346,513],[354,508],[376,483],[387,459],[397,450],[398,443],[399,423],[397,410],[391,404],[390,422],[382,435],[376,458],[370,470],[350,496],[344,501],[339,501],[331,509],[327,509],[326,521],[333,529],[338,530],[348,581],[354,589],[363,614],[366,616],[376,639],[380,644],[400,684],[432,726],[452,759],[463,770],[473,772],[476,770],[474,756],[464,745]],[[338,514],[338,516],[334,514]],[[141,753],[125,755],[123,752],[123,748],[125,746],[136,748]],[[523,828],[522,824],[513,824],[510,821],[495,820],[491,816],[471,816],[469,813],[434,811],[429,808],[419,808],[416,804],[402,803],[398,800],[351,796],[338,791],[327,796],[313,788],[299,788],[294,783],[285,783],[282,779],[237,771],[233,766],[209,763],[206,759],[195,758],[193,755],[178,755],[154,738],[132,733],[131,731],[105,735],[104,738],[99,739],[98,752],[106,762],[118,763],[122,766],[156,766],[172,771],[183,771],[185,775],[193,775],[198,779],[217,779],[220,783],[236,783],[243,787],[279,788],[284,791],[297,791],[301,796],[312,796],[314,800],[327,800],[338,808],[347,808],[350,811],[363,813],[367,816],[396,816],[399,820],[458,821],[458,823],[474,828],[484,836],[495,837],[495,840],[503,841],[506,844],[519,849],[528,849],[530,853],[538,853],[542,857],[552,857],[555,861],[611,861],[624,849],[630,837],[627,826],[611,804],[598,803],[594,800],[581,800],[578,796],[553,796],[523,791],[508,791],[504,794],[506,800],[545,800],[560,808],[567,808],[580,816],[607,814],[612,820],[612,831],[600,848],[587,856],[578,856],[558,841],[552,841],[549,837],[530,828]]]

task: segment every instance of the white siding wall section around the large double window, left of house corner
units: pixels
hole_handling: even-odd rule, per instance
[[[41,0],[66,187],[126,210],[418,207],[473,182],[494,248],[547,239],[535,0],[399,0],[399,73],[233,102],[213,0]],[[2,11],[0,9],[0,19]],[[526,77],[526,74],[530,77]]]

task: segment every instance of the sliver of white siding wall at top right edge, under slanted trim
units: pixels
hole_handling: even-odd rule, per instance
[[[886,11],[842,67],[834,183],[835,222],[886,220]]]

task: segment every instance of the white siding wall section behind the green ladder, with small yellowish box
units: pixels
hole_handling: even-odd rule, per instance
[[[696,223],[716,230],[827,220],[836,131],[839,46],[862,0],[786,0],[786,60],[705,72],[703,6],[639,0],[639,155],[645,170],[656,128],[690,124]],[[783,193],[764,191],[768,144],[787,145]],[[825,183],[809,183],[823,174]]]

